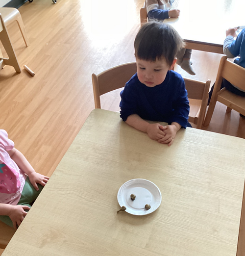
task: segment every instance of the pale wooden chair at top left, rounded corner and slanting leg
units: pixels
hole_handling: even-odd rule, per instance
[[[1,7],[0,8],[0,14],[2,16],[2,19],[5,23],[5,26],[8,26],[9,24],[13,23],[14,21],[17,22],[22,37],[24,39],[26,47],[29,46],[29,41],[25,32],[25,26],[23,24],[23,20],[21,17],[20,12],[16,8],[10,8],[10,7]]]

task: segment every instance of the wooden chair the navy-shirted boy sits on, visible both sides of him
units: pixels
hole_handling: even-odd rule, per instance
[[[136,62],[131,62],[108,69],[98,76],[93,74],[95,108],[101,108],[99,98],[101,95],[124,87],[136,72]],[[206,113],[210,80],[206,83],[186,78],[184,80],[190,101],[189,121],[200,129]]]

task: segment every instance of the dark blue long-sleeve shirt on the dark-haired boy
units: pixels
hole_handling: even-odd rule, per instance
[[[168,71],[163,83],[147,87],[138,79],[137,73],[126,83],[121,92],[121,118],[126,121],[132,114],[142,119],[171,124],[176,122],[183,128],[189,126],[190,112],[183,77]]]

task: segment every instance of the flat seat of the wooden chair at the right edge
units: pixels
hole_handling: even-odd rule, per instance
[[[245,115],[245,97],[231,93],[224,88],[218,93],[218,101]]]

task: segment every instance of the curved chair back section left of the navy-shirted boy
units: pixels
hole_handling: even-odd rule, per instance
[[[95,108],[101,108],[99,96],[125,86],[137,72],[136,62],[125,63],[108,69],[98,76],[92,75]]]

